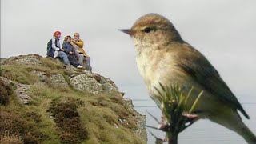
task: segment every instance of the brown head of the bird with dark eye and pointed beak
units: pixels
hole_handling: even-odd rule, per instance
[[[134,23],[130,29],[121,30],[134,40],[135,47],[155,47],[180,39],[173,24],[159,14],[146,14]]]

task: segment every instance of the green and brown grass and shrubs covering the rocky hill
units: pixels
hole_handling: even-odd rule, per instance
[[[54,87],[41,82],[33,71],[46,75],[62,74],[62,64],[41,58],[41,66],[8,62],[1,66],[0,140],[17,143],[145,143],[134,134],[134,113],[124,105],[121,95],[87,94],[71,87]],[[79,71],[78,71],[79,72]],[[30,101],[19,102],[16,83],[28,84]],[[67,81],[68,82],[68,81]],[[126,123],[119,122],[125,118]]]

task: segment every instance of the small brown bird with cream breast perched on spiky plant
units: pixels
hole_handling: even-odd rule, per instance
[[[131,29],[122,32],[133,39],[138,70],[151,98],[158,96],[155,87],[159,88],[159,83],[163,86],[178,84],[186,94],[193,86],[194,93],[190,96],[189,107],[203,91],[194,109],[198,118],[208,118],[234,130],[246,142],[256,143],[255,135],[238,114],[239,110],[249,118],[238,99],[214,66],[198,50],[182,40],[167,18],[159,14],[146,14]]]

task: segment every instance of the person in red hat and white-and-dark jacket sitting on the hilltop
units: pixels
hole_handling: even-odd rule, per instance
[[[47,56],[52,58],[61,58],[65,65],[70,65],[70,61],[67,58],[66,53],[60,46],[59,38],[61,38],[61,32],[55,31],[54,38],[50,39],[47,43]]]

